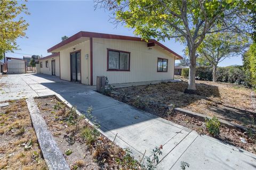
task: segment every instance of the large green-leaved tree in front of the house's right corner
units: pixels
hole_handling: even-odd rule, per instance
[[[249,3],[249,2],[248,2]],[[189,81],[185,92],[196,94],[196,50],[205,35],[226,31],[242,32],[247,27],[247,5],[239,0],[222,1],[137,1],[96,0],[95,7],[107,8],[114,23],[133,28],[145,40],[176,38],[186,43],[189,51]]]

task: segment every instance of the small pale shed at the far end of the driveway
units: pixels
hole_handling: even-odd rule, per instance
[[[26,60],[21,58],[6,57],[7,74],[26,73]]]

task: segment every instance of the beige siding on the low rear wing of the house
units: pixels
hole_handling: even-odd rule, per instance
[[[43,62],[43,67],[40,67],[40,70],[38,71],[38,73],[52,75],[52,60],[55,60],[55,74],[56,74],[56,76],[59,77],[60,76],[59,56],[39,60],[39,67],[40,67],[41,62]],[[45,63],[46,61],[48,61],[49,67],[46,67],[46,63]]]

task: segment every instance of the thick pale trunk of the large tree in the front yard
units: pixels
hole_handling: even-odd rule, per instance
[[[196,91],[196,50],[191,49],[190,63],[189,63],[189,78],[188,88],[185,90],[186,94],[197,94]]]

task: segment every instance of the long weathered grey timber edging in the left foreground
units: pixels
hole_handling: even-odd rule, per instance
[[[47,166],[49,169],[54,170],[70,169],[51,132],[47,130],[47,125],[39,112],[34,98],[26,99],[26,102],[37,140]]]

